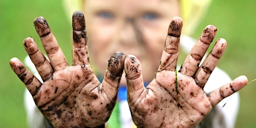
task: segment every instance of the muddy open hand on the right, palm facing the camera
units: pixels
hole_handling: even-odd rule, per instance
[[[158,71],[147,87],[143,84],[138,59],[127,55],[124,60],[127,100],[132,119],[138,127],[193,127],[220,100],[247,83],[245,76],[239,76],[209,94],[204,92],[203,87],[226,47],[225,39],[218,39],[198,67],[215,36],[216,27],[212,25],[203,30],[177,72],[181,27],[181,18],[174,17],[168,28]]]

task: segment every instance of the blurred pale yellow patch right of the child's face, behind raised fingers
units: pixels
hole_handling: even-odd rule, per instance
[[[200,20],[206,14],[211,0],[180,0],[182,34],[191,35]]]

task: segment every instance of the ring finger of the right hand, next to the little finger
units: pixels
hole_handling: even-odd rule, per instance
[[[226,48],[226,40],[219,38],[208,56],[203,60],[202,64],[196,71],[194,78],[195,82],[200,86],[204,87],[207,82],[212,70],[216,67],[219,58],[222,56]]]

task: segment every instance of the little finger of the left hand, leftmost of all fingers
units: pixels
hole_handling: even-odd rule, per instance
[[[18,58],[11,58],[9,63],[12,70],[26,85],[29,92],[32,95],[35,95],[42,83],[24,66],[24,64]]]

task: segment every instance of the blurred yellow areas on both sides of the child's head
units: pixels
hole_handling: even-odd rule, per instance
[[[84,0],[63,0],[68,18],[71,19],[75,10],[82,10]],[[200,19],[206,14],[211,0],[180,0],[183,20],[182,34],[190,35]]]

